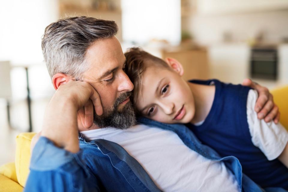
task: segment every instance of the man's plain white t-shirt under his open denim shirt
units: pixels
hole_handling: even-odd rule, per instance
[[[90,140],[118,143],[163,191],[241,191],[223,162],[189,149],[173,131],[135,125],[127,130],[104,128],[81,133]]]

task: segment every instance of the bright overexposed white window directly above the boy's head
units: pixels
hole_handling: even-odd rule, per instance
[[[122,0],[122,33],[126,42],[145,44],[157,38],[179,44],[180,0]]]

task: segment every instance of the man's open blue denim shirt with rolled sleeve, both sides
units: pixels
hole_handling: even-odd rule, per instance
[[[163,124],[140,118],[139,123],[175,132],[190,149],[212,161],[223,161],[235,175],[242,191],[286,191],[280,188],[261,189],[242,173],[237,158],[221,158],[213,149],[199,142],[181,124]],[[143,167],[117,143],[79,137],[76,154],[53,145],[40,137],[32,153],[30,174],[24,191],[161,191]]]

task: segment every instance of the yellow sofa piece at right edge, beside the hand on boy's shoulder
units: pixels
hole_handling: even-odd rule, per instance
[[[288,130],[288,85],[271,91],[280,111],[280,123]]]

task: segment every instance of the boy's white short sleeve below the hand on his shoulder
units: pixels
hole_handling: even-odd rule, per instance
[[[247,121],[251,140],[254,146],[258,147],[269,161],[276,159],[283,151],[288,141],[288,133],[280,124],[273,121],[266,123],[264,119],[259,120],[254,110],[257,91],[251,89],[247,97]]]

